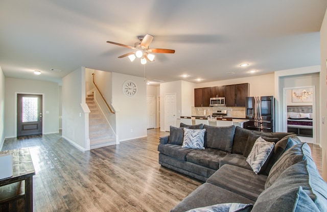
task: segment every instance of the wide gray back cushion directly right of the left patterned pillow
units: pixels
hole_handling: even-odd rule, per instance
[[[203,129],[206,129],[205,147],[231,152],[235,134],[234,125],[218,127],[204,124]]]

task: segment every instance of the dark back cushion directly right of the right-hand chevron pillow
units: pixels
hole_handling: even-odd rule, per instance
[[[263,165],[263,167],[261,169],[262,171],[260,171],[259,173],[268,175],[271,170],[271,167],[276,163],[276,161],[279,159],[279,157],[281,157],[282,154],[287,149],[291,148],[295,144],[300,144],[300,143],[301,143],[301,141],[297,138],[296,134],[291,134],[291,135],[285,136],[284,138],[279,140],[273,148],[271,157]]]

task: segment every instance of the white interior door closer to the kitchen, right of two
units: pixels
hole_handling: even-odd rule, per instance
[[[165,130],[170,126],[176,126],[176,94],[165,95]]]

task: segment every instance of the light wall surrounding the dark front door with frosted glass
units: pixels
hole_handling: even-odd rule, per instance
[[[59,132],[59,85],[58,83],[5,78],[5,137],[17,136],[17,93],[43,94],[43,134]],[[45,111],[49,111],[46,114]]]

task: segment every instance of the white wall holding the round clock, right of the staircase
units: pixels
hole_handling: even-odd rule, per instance
[[[112,104],[119,112],[119,141],[147,136],[147,87],[143,77],[112,72]],[[136,83],[137,93],[127,97],[123,93],[123,84],[127,80]]]

